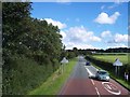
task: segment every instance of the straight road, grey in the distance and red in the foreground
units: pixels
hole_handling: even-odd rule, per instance
[[[93,66],[86,66],[86,61],[82,56],[79,56],[77,65],[62,87],[60,95],[96,95],[98,97],[104,95],[128,96],[129,92],[112,79],[109,82],[90,79],[90,75],[95,75],[98,69]]]

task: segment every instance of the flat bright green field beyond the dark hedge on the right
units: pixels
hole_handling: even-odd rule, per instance
[[[108,63],[114,63],[116,58],[119,58],[122,64],[128,64],[128,55],[93,55],[93,57]]]

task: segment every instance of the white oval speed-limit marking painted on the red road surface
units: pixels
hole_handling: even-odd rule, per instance
[[[108,84],[107,84],[108,83]],[[107,87],[106,87],[106,85],[107,85]],[[110,84],[110,85],[109,85]],[[114,94],[114,95],[120,95],[121,94],[121,92],[118,89],[118,87],[117,86],[115,86],[114,84],[112,84],[110,82],[102,82],[102,85],[104,86],[104,88],[108,92],[108,93],[110,93],[110,94]],[[110,87],[110,88],[109,88]],[[116,87],[116,88],[115,88]],[[115,89],[117,89],[118,92],[113,92],[113,89],[112,88],[115,88]]]

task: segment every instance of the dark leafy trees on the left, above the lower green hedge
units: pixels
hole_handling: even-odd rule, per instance
[[[58,59],[62,51],[60,29],[30,17],[30,3],[3,3],[3,58],[20,54],[38,63]]]

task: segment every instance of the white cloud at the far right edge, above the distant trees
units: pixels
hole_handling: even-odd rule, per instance
[[[116,33],[115,42],[128,42],[128,37],[130,38],[130,36],[128,36],[128,34]]]

